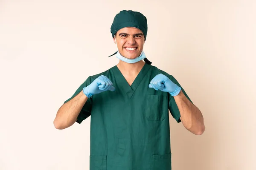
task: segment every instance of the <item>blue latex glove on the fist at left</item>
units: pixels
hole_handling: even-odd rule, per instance
[[[84,94],[90,98],[94,94],[102,93],[103,91],[115,91],[115,88],[112,86],[113,83],[106,76],[100,76],[96,78],[90,85],[83,88]]]

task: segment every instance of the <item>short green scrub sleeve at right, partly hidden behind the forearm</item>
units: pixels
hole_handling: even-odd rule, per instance
[[[184,91],[184,89],[181,87],[180,83],[177,82],[177,80],[176,80],[172,75],[169,75],[169,79],[171,79],[172,82],[174,82],[176,85],[178,85],[178,86],[181,88],[183,94],[186,96],[186,98],[189,99],[189,96],[186,94],[186,92]],[[191,99],[189,99],[189,101],[192,102]],[[177,106],[177,104],[176,104],[176,102],[175,102],[174,97],[173,97],[172,95],[170,95],[169,93],[168,93],[168,102],[169,102],[169,111],[171,112],[172,117],[173,117],[178,123],[181,122],[181,120],[180,120],[180,111],[179,111],[179,109],[178,109],[178,106]],[[193,102],[192,102],[192,103],[193,103]]]

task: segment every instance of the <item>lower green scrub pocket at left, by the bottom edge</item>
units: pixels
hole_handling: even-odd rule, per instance
[[[90,156],[90,170],[107,170],[107,156]]]

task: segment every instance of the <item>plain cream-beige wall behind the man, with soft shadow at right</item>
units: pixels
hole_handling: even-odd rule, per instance
[[[255,0],[0,0],[0,170],[89,170],[90,118],[65,130],[53,119],[118,63],[123,9],[148,18],[145,54],[204,115],[202,136],[170,119],[173,170],[256,170]]]

